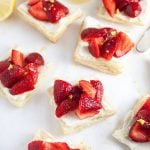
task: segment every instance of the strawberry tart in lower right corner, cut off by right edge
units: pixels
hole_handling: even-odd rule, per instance
[[[150,149],[150,95],[137,102],[113,136],[131,150]]]

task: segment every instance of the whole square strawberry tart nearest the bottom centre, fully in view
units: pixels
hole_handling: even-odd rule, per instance
[[[49,89],[50,104],[64,134],[81,131],[114,115],[116,111],[103,92],[99,80],[80,80],[74,85],[55,80]]]

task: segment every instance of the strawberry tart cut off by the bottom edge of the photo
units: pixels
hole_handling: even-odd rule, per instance
[[[45,130],[38,130],[33,140],[28,144],[28,150],[91,150],[84,143],[67,144],[55,139]]]

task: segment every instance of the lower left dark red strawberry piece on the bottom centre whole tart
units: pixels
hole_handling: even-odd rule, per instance
[[[62,101],[56,108],[56,116],[61,117],[65,114],[67,114],[70,111],[73,111],[77,109],[79,105],[79,99],[73,100],[73,99],[66,99]]]

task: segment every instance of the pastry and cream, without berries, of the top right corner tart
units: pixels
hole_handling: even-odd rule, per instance
[[[130,23],[137,22],[137,23],[145,24],[146,22],[149,21],[150,2],[149,2],[149,0],[142,0],[142,1],[140,1],[140,5],[142,7],[142,12],[139,16],[137,16],[135,18],[131,18],[131,17],[125,15],[123,12],[116,13],[113,16],[113,18],[120,20],[120,21],[124,20],[124,21],[130,22]],[[106,11],[106,9],[104,8],[102,3],[98,8],[98,13],[104,15],[106,18],[112,18],[108,14],[108,12]]]

